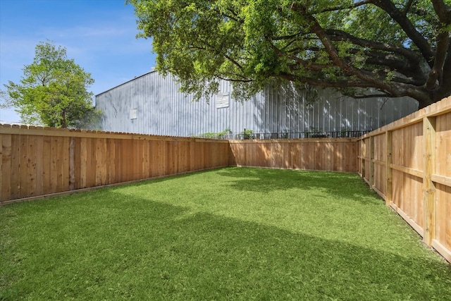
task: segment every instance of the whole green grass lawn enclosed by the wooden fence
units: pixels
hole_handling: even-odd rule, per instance
[[[223,168],[0,207],[0,300],[451,300],[354,174]]]

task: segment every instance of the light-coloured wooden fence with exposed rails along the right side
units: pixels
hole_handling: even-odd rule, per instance
[[[359,173],[451,262],[451,97],[360,137]]]

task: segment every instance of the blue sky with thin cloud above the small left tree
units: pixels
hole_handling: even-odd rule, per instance
[[[0,0],[0,89],[20,81],[35,46],[49,39],[91,73],[89,91],[109,90],[155,66],[152,40],[137,33],[125,0]],[[14,122],[18,113],[1,109],[0,123]]]

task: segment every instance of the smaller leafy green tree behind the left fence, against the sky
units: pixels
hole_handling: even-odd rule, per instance
[[[93,82],[90,73],[67,58],[66,48],[40,42],[20,83],[9,81],[3,95],[24,122],[79,128],[99,116],[87,91]]]

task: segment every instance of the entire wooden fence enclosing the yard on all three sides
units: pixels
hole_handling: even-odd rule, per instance
[[[0,125],[0,205],[221,166],[358,172],[451,262],[451,97],[362,137],[209,140]]]

